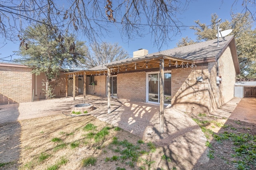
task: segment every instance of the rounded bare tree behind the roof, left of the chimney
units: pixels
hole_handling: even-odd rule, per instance
[[[90,45],[90,47],[92,51],[89,55],[86,56],[84,68],[92,68],[99,66],[100,64],[119,61],[129,57],[127,51],[122,49],[118,43],[93,43]]]

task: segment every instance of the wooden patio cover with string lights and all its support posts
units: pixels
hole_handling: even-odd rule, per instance
[[[76,84],[77,76],[84,76],[84,84],[86,84],[86,76],[107,76],[107,98],[108,98],[108,111],[111,113],[110,104],[110,76],[113,74],[129,73],[129,72],[152,72],[160,71],[160,93],[159,93],[159,118],[160,118],[160,133],[164,133],[164,70],[172,70],[174,68],[188,68],[196,67],[196,62],[192,60],[180,59],[176,57],[170,57],[166,55],[153,55],[151,57],[136,57],[132,59],[124,59],[121,61],[112,62],[105,66],[97,66],[89,70],[81,70],[76,72],[68,72],[66,75],[66,97],[68,96],[68,77],[73,77],[73,84]],[[83,87],[84,103],[86,100],[86,86]],[[76,86],[73,86],[73,100],[76,97]]]

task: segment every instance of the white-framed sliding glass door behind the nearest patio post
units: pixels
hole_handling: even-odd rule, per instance
[[[159,72],[146,74],[146,102],[159,104]],[[171,71],[164,72],[164,104],[171,104]]]

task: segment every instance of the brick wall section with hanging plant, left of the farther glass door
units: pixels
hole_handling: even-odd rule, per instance
[[[94,76],[97,85],[89,85],[89,77],[86,77],[86,94],[106,96],[106,75]]]

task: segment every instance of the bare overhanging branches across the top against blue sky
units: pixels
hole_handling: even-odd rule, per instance
[[[180,33],[176,17],[190,0],[0,0],[0,36],[14,40],[32,23],[52,29],[82,33],[87,41],[100,40],[116,26],[124,37],[134,39],[152,34],[159,48]],[[74,31],[74,32],[73,32]]]

